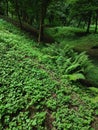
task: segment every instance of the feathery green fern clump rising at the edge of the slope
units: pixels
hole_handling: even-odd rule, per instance
[[[92,62],[89,60],[85,52],[79,54],[68,45],[65,47],[58,44],[52,45],[43,49],[43,52],[47,52],[49,55],[44,61],[47,61],[50,66],[52,65],[54,71],[63,77],[64,75],[65,77],[68,77],[69,75],[69,77],[72,76],[72,79],[75,77],[75,80],[79,78],[84,79],[93,67]]]

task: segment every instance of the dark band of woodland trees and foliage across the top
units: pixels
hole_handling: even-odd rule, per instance
[[[98,0],[2,0],[0,14],[39,30],[43,41],[45,26],[77,26],[90,33],[90,25],[98,24]]]

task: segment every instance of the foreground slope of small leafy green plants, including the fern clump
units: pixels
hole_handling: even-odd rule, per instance
[[[97,130],[98,90],[78,82],[91,67],[84,53],[38,45],[0,20],[0,129]]]

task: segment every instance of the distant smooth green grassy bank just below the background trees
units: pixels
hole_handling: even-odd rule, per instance
[[[62,26],[46,28],[45,32],[57,42],[70,44],[80,51],[90,51],[93,46],[98,46],[98,34],[85,34],[85,29]]]

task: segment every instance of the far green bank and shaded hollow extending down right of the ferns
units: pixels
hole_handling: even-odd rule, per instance
[[[89,74],[89,79],[98,84],[98,34],[93,33],[93,27],[91,30],[92,34],[88,35],[85,35],[85,29],[75,27],[47,28],[45,32],[62,46],[68,44],[78,52],[85,51],[94,63],[94,68],[92,69],[92,73]]]

